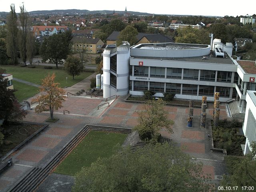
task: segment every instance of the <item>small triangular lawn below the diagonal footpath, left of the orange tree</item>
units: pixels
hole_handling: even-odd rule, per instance
[[[39,90],[39,88],[37,87],[27,85],[15,80],[12,80],[12,83],[13,83],[14,89],[17,90],[16,92],[14,92],[14,94],[19,102],[22,102],[23,100],[26,100],[34,96],[35,94],[38,93],[38,90]]]

